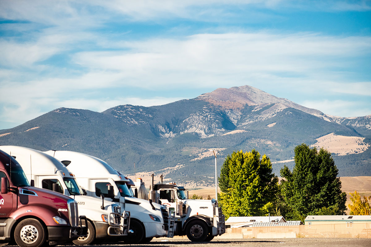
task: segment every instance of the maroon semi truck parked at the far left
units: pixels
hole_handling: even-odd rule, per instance
[[[0,246],[13,240],[21,247],[54,246],[86,236],[76,201],[30,186],[19,163],[1,150],[0,179]]]

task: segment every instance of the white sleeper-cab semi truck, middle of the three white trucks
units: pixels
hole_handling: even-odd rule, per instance
[[[135,198],[127,187],[128,179],[117,173],[105,161],[83,153],[73,151],[49,150],[45,153],[57,158],[76,176],[81,187],[88,196],[98,197],[97,191],[104,195],[108,192],[107,185],[113,186],[114,198],[105,197],[106,200],[124,204],[131,212],[130,230],[125,243],[147,243],[153,237],[172,237],[171,229],[168,231],[167,209],[160,204],[148,200]]]

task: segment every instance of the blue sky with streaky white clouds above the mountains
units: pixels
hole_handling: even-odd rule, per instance
[[[370,0],[1,0],[0,130],[242,85],[370,115],[370,55]]]

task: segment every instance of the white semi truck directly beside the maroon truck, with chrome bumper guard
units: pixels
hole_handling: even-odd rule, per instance
[[[107,240],[109,236],[128,234],[129,212],[124,211],[122,214],[121,207],[116,203],[85,196],[73,174],[56,158],[27,147],[0,147],[19,162],[35,187],[65,194],[77,201],[79,213],[84,214],[88,220],[88,234],[73,243],[90,244],[95,239]]]

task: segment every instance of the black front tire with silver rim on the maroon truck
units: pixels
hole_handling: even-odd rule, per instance
[[[14,240],[20,247],[40,247],[45,242],[45,229],[36,219],[24,219],[14,229]]]

